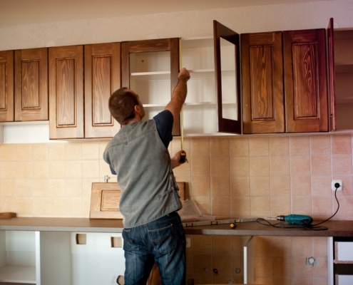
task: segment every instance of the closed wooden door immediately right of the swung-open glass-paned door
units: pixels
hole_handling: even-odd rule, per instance
[[[282,32],[243,33],[243,133],[284,133]]]

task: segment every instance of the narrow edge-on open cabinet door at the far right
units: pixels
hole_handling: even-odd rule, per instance
[[[329,130],[337,130],[336,120],[336,91],[334,71],[334,22],[329,19],[327,26],[327,61],[329,73]]]

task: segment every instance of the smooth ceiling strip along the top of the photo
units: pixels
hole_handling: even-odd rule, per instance
[[[0,26],[312,1],[324,0],[0,0]]]

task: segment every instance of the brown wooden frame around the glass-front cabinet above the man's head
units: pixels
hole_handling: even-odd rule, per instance
[[[170,98],[178,84],[180,71],[180,38],[161,38],[121,43],[121,86],[130,88],[130,54],[170,51]],[[144,103],[144,102],[143,102]],[[180,135],[180,115],[173,123],[173,136]]]

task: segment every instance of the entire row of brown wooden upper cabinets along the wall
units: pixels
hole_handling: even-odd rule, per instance
[[[327,30],[241,35],[214,21],[210,38],[0,51],[0,121],[49,120],[51,139],[111,138],[114,90],[134,90],[153,118],[185,67],[173,135],[352,130],[353,36],[344,32],[332,19]]]

